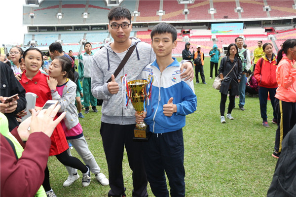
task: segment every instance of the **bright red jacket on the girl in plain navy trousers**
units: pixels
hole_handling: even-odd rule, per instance
[[[276,81],[276,61],[275,56],[272,56],[271,62],[263,56],[259,58],[257,61],[255,71],[254,71],[254,77],[258,81],[258,86],[264,87],[264,88],[277,88],[277,81]]]

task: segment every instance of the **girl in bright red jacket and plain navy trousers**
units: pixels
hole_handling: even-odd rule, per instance
[[[276,111],[274,108],[274,96],[276,89],[278,87],[276,82],[276,61],[275,55],[272,53],[273,47],[270,43],[265,43],[262,46],[265,56],[261,57],[258,61],[255,68],[254,76],[258,81],[258,94],[260,101],[260,112],[261,118],[263,119],[262,125],[264,127],[269,127],[267,122],[266,106],[267,106],[267,97],[269,93],[269,98],[273,108],[273,119],[272,123],[277,123]]]

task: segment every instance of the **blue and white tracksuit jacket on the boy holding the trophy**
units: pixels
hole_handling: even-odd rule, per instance
[[[162,73],[156,60],[142,70],[142,78],[148,80],[148,75],[153,73],[151,99],[147,104],[147,116],[145,122],[150,127],[150,132],[165,133],[177,131],[185,126],[185,115],[196,110],[196,95],[193,82],[181,79],[180,67],[176,58]],[[163,114],[163,105],[173,97],[173,104],[177,105],[177,112],[171,117]]]

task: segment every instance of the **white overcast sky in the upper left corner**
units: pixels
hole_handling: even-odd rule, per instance
[[[1,0],[0,47],[2,44],[22,44],[27,28],[23,27],[23,4],[25,0]]]

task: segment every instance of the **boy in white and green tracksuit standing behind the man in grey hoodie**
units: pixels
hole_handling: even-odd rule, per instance
[[[97,99],[91,93],[91,59],[93,52],[91,43],[86,42],[84,44],[85,53],[79,56],[78,73],[79,79],[82,79],[82,90],[83,90],[83,106],[85,107],[85,114],[89,112],[89,102],[92,105],[91,109],[97,113]]]

